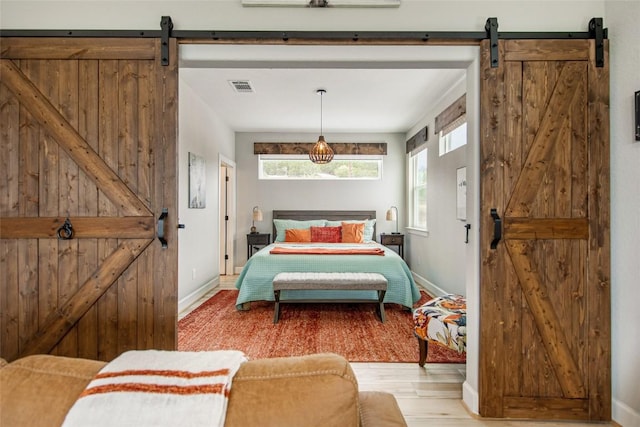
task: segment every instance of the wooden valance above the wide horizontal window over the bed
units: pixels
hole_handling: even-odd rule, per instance
[[[254,142],[253,154],[309,154],[315,142]],[[331,142],[336,155],[387,155],[386,142]]]

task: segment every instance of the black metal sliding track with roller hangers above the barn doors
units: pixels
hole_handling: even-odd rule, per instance
[[[604,40],[608,31],[602,18],[591,18],[584,32],[499,32],[498,18],[488,18],[484,31],[201,31],[174,30],[170,16],[160,20],[160,30],[0,30],[0,37],[118,37],[160,38],[161,64],[169,65],[169,39],[189,41],[209,40],[212,43],[285,44],[438,44],[457,41],[461,45],[490,40],[491,67],[499,66],[498,40],[522,39],[594,39],[596,67],[604,67]],[[3,52],[4,56],[4,52]]]

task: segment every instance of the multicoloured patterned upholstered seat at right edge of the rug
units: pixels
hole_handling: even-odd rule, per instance
[[[463,296],[444,295],[427,301],[413,311],[413,323],[420,366],[427,361],[430,343],[458,353],[467,351],[467,300]]]

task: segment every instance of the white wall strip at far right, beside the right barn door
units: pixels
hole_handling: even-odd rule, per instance
[[[606,3],[611,72],[611,310],[613,418],[640,426],[640,2]],[[631,326],[631,329],[628,328]],[[631,334],[631,336],[630,336]]]

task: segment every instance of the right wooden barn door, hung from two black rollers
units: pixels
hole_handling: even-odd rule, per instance
[[[500,41],[491,68],[482,45],[486,417],[611,416],[606,41],[604,67],[594,51],[593,40]]]

